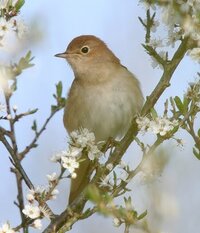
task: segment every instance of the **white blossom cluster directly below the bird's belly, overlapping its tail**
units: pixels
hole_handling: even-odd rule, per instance
[[[76,169],[79,167],[83,153],[86,153],[90,160],[98,159],[102,155],[95,142],[94,133],[85,128],[71,132],[68,149],[54,155],[51,160],[60,162],[69,171],[71,177],[76,178]]]

